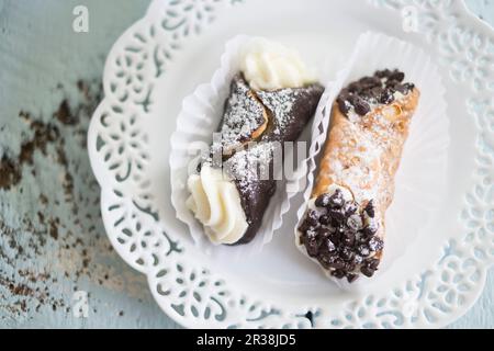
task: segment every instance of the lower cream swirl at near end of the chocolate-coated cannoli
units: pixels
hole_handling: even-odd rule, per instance
[[[235,244],[244,236],[248,224],[240,195],[222,170],[203,165],[200,174],[189,177],[188,188],[187,206],[213,244]]]

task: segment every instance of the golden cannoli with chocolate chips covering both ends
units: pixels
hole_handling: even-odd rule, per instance
[[[372,276],[384,246],[385,211],[419,92],[398,70],[343,89],[333,105],[318,173],[295,245],[329,278]]]

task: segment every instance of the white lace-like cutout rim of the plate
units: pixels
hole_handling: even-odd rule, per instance
[[[367,0],[394,11],[404,0]],[[290,308],[254,299],[191,258],[189,244],[167,233],[153,206],[153,168],[143,115],[153,109],[153,89],[183,42],[238,0],[155,0],[144,19],[115,43],[105,65],[105,98],[88,132],[91,167],[101,186],[103,223],[116,252],[147,275],[164,312],[187,327],[439,327],[473,305],[494,262],[494,35],[463,2],[414,1],[428,43],[438,47],[451,79],[468,90],[465,100],[476,125],[472,190],[465,194],[465,235],[445,242],[436,267],[396,286],[389,296],[367,295],[341,305]],[[406,10],[406,9],[405,9]],[[491,80],[492,79],[492,80]],[[167,159],[167,158],[164,158]],[[492,219],[492,220],[491,220]]]

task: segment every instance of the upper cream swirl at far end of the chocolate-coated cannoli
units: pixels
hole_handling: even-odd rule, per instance
[[[296,50],[267,39],[250,42],[240,65],[255,90],[301,88],[315,81]]]

